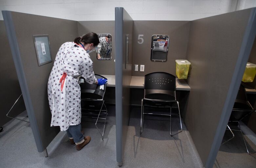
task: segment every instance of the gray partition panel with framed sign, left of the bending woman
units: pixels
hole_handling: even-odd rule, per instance
[[[59,127],[50,127],[47,82],[55,55],[64,42],[78,36],[77,22],[3,11],[11,52],[38,152],[51,143]],[[32,35],[49,35],[53,62],[38,66]]]

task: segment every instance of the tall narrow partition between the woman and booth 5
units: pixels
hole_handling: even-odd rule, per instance
[[[125,63],[126,35],[129,34],[129,63]],[[116,134],[117,162],[121,165],[130,113],[133,20],[123,8],[115,8],[116,37]]]

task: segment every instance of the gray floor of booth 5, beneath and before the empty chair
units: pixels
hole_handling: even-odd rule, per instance
[[[178,115],[174,115],[172,117],[173,133],[180,130],[179,122]],[[133,108],[125,144],[123,167],[203,167],[183,122],[182,127],[181,133],[171,137],[169,117],[145,115],[143,133],[140,134],[140,108]]]

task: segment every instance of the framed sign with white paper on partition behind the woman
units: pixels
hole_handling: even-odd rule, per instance
[[[33,35],[38,66],[52,62],[51,48],[48,35]]]

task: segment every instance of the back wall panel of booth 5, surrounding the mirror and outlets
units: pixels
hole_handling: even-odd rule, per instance
[[[145,71],[134,71],[133,76],[145,76],[152,72],[176,74],[176,59],[186,59],[189,37],[189,21],[134,21],[133,65],[145,65]],[[150,60],[151,39],[154,34],[169,35],[169,52],[166,62]],[[143,35],[143,43],[139,44],[138,36]]]

